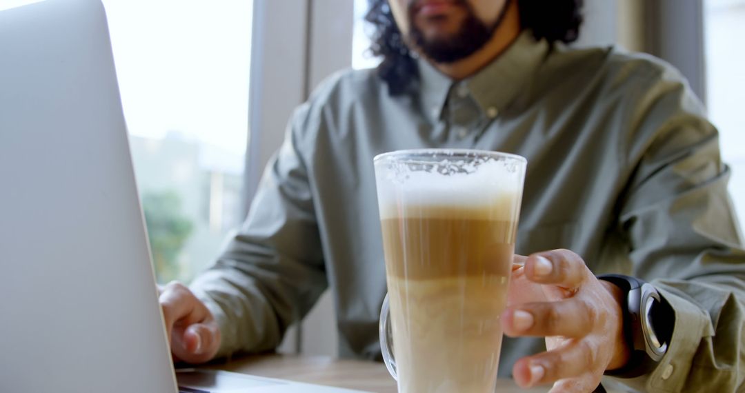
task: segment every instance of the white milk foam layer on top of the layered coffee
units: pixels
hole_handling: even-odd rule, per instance
[[[517,219],[522,170],[498,161],[463,167],[466,172],[440,173],[436,169],[405,167],[381,171],[388,172],[378,173],[377,179],[381,220],[422,216]]]

